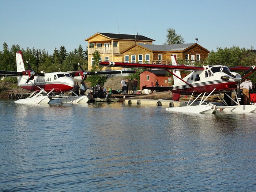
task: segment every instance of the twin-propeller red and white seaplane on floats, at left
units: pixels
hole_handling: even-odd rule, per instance
[[[52,73],[35,73],[29,62],[27,65],[30,70],[25,70],[23,62],[22,52],[16,53],[16,66],[17,71],[0,71],[0,75],[3,76],[17,76],[18,86],[23,89],[34,91],[29,97],[25,99],[19,99],[16,103],[27,103],[27,104],[48,104],[52,99],[60,99],[61,102],[65,103],[87,103],[89,97],[87,95],[76,95],[76,96],[64,96],[62,93],[66,91],[72,91],[75,86],[74,79],[85,80],[86,75],[100,75],[100,74],[120,74],[120,73],[134,73],[135,71],[100,71],[100,72],[85,72],[82,71],[67,73],[67,72],[52,72]],[[57,94],[57,96],[53,95]]]

